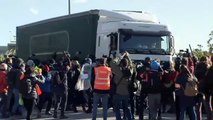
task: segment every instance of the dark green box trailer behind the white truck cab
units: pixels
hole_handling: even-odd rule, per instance
[[[19,26],[16,54],[25,60],[32,54],[44,60],[63,51],[95,55],[98,19],[93,10]]]

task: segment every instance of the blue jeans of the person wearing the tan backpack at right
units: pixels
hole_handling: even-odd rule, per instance
[[[195,113],[195,107],[185,107],[185,105],[180,107],[180,118],[179,120],[184,120],[185,117],[185,111],[187,110],[187,113],[189,115],[190,120],[197,120],[196,119],[196,113]]]

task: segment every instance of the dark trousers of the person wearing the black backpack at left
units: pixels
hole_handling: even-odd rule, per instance
[[[31,120],[31,114],[33,112],[33,107],[34,107],[34,103],[35,103],[35,99],[34,98],[24,98],[22,97],[23,99],[23,103],[24,103],[24,107],[26,108],[27,110],[27,117],[26,119],[27,120]]]

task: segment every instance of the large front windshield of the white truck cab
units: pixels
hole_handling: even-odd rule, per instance
[[[131,54],[170,54],[169,35],[120,34],[120,51]]]

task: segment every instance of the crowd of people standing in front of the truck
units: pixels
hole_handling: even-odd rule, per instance
[[[0,62],[1,118],[22,114],[31,120],[33,110],[42,118],[45,109],[46,115],[64,119],[66,111],[81,106],[92,120],[98,107],[103,120],[110,108],[116,120],[136,115],[143,120],[145,111],[150,120],[161,120],[162,113],[174,113],[176,120],[184,120],[185,113],[202,120],[205,113],[213,120],[213,57],[178,57],[169,64],[147,57],[136,64],[128,52],[98,59],[65,53],[46,61],[6,57]]]

